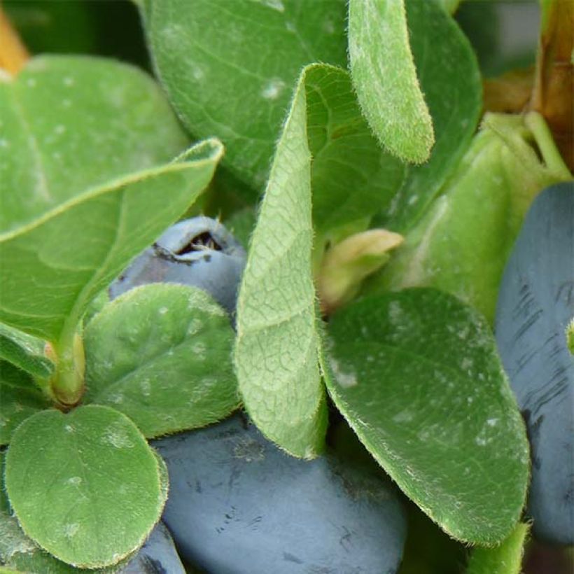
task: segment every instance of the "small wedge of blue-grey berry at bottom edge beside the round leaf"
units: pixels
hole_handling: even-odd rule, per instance
[[[163,522],[158,522],[121,574],[186,574],[174,541]]]

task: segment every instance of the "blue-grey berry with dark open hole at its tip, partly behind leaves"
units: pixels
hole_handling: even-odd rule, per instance
[[[232,313],[245,260],[244,248],[219,221],[186,219],[132,261],[111,284],[110,297],[147,283],[183,283],[206,290]]]

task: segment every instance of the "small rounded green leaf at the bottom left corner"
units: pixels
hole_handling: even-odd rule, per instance
[[[123,414],[98,405],[46,410],[22,423],[6,455],[6,491],[30,538],[90,568],[137,549],[165,503],[143,435]]]

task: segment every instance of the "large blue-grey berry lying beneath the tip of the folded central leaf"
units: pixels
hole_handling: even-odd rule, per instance
[[[382,472],[288,456],[242,414],[153,442],[169,470],[163,519],[209,574],[393,574],[405,513]]]

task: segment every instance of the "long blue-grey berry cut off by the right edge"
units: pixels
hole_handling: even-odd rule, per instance
[[[574,544],[574,183],[544,190],[505,268],[496,340],[531,442],[528,514],[541,540]]]

